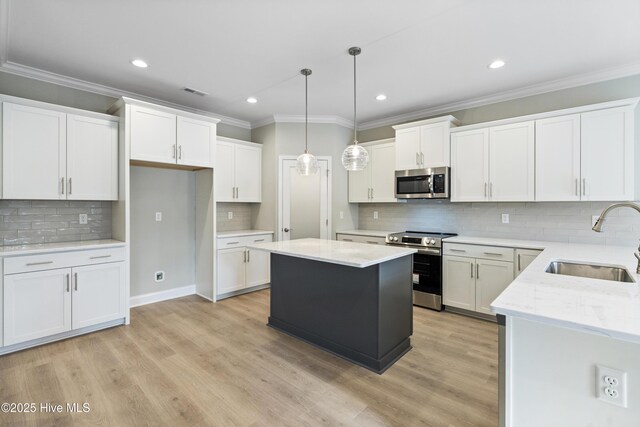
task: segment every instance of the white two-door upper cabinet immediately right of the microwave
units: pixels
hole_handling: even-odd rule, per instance
[[[528,121],[454,133],[451,200],[534,200],[534,129]]]

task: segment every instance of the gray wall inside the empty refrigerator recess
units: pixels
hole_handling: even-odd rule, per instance
[[[132,166],[131,296],[193,285],[194,260],[194,173]],[[165,281],[156,283],[159,270]]]

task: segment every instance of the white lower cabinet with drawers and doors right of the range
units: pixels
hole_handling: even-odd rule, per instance
[[[493,314],[491,303],[513,281],[513,254],[513,248],[445,244],[444,305]]]

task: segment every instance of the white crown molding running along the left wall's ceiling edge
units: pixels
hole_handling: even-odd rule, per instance
[[[2,1],[2,0],[0,0]],[[85,80],[75,79],[73,77],[63,76],[61,74],[51,73],[38,68],[28,67],[26,65],[17,64],[11,61],[4,61],[0,63],[0,71],[6,73],[15,74],[22,77],[28,77],[35,80],[40,80],[47,83],[53,83],[60,86],[65,86],[71,89],[83,90],[85,92],[97,93],[99,95],[109,96],[111,98],[121,98],[123,96],[135,98],[140,101],[151,102],[153,104],[162,105],[169,108],[175,108],[178,110],[187,111],[189,113],[198,114],[201,116],[212,117],[219,119],[221,123],[236,126],[243,129],[251,129],[251,124],[245,120],[239,120],[233,117],[227,117],[220,114],[212,113],[211,111],[200,110],[198,108],[192,108],[185,105],[175,104],[173,102],[163,101],[161,99],[152,98],[149,96],[141,95],[135,92],[129,92],[121,89],[117,89],[110,86],[105,86],[97,83],[88,82]]]

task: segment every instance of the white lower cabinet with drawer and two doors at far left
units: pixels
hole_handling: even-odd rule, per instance
[[[11,274],[3,276],[3,346],[124,319],[123,249],[50,254],[44,261],[49,255],[5,258],[4,271]],[[96,263],[91,256],[117,262]],[[85,258],[89,265],[72,266]],[[54,265],[64,268],[43,269]]]

